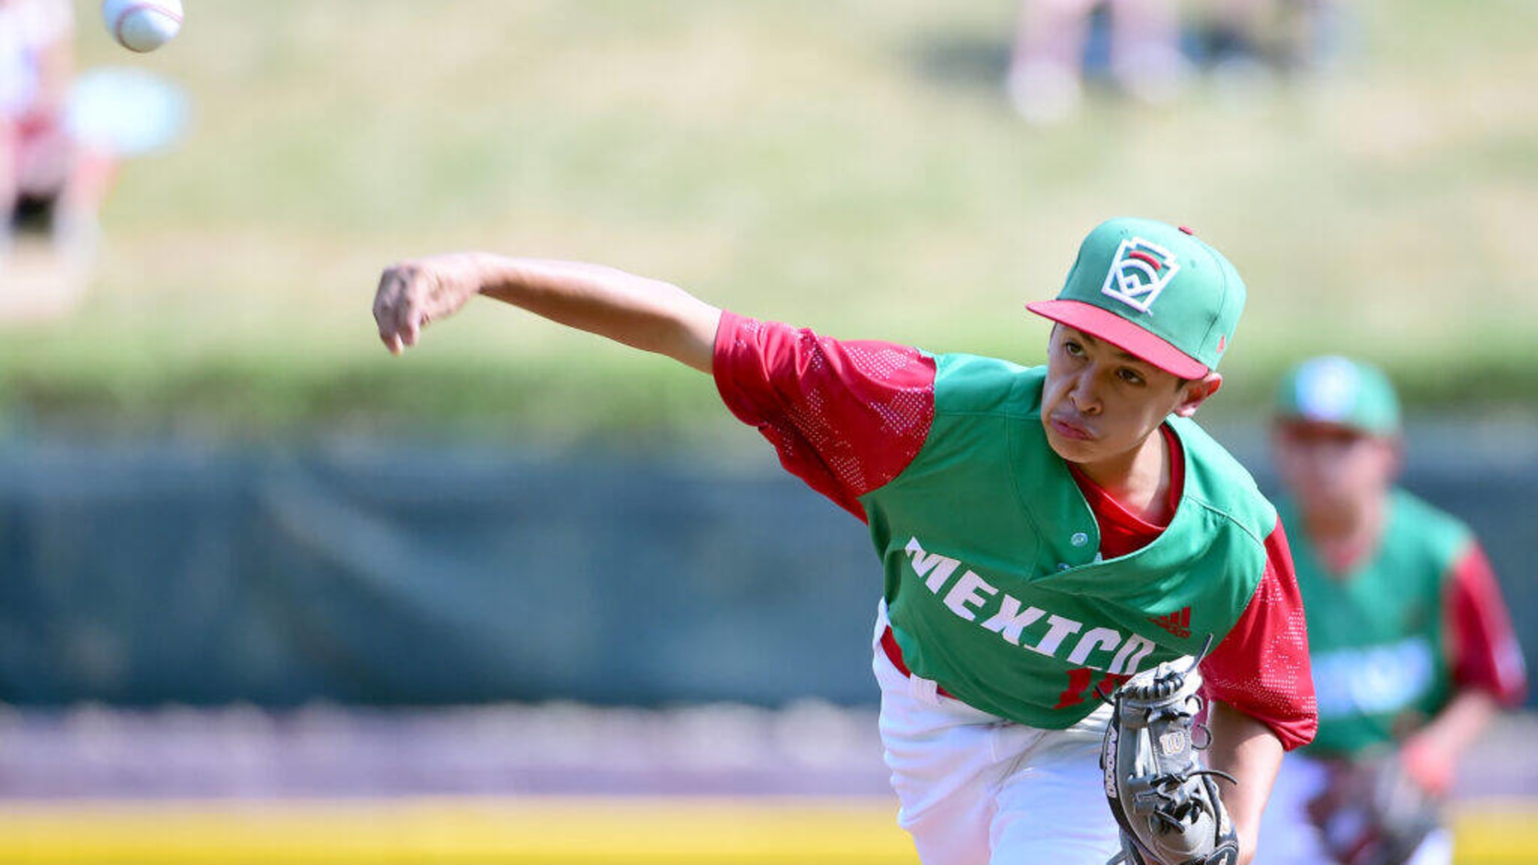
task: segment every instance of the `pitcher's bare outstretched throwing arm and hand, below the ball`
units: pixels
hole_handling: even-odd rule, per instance
[[[394,265],[374,297],[380,339],[400,354],[477,294],[711,372],[720,309],[675,285],[580,262],[451,252]]]

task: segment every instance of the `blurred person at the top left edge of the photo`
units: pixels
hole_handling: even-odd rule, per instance
[[[17,229],[71,257],[94,249],[112,162],[66,128],[74,35],[68,0],[0,0],[0,254]]]

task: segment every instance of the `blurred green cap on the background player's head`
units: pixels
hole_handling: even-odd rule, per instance
[[[1383,369],[1349,357],[1313,357],[1277,391],[1278,420],[1330,423],[1369,436],[1400,432],[1400,397]]]

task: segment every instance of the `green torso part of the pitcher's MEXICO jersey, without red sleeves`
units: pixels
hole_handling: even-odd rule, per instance
[[[861,497],[892,630],[917,676],[1058,730],[1098,705],[1072,685],[1114,686],[1227,634],[1255,594],[1277,516],[1223,448],[1169,420],[1189,466],[1175,517],[1149,546],[1106,560],[1041,426],[1044,369],[972,356],[935,365],[924,448]],[[1155,625],[1186,608],[1184,637]]]

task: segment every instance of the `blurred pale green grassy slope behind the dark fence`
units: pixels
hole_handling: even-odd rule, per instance
[[[378,269],[589,259],[1037,362],[1021,302],[1117,214],[1195,226],[1250,283],[1212,411],[1317,351],[1380,360],[1423,409],[1538,397],[1530,2],[1352,3],[1361,51],[1329,82],[1097,99],[1054,129],[998,88],[1014,0],[203,0],[148,57],[77,6],[85,65],[171,75],[197,119],[126,168],[83,309],[0,334],[12,419],[671,437],[724,422],[707,383],[512,311],[389,359]]]

